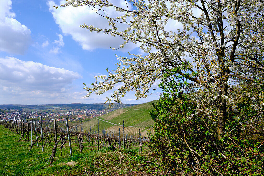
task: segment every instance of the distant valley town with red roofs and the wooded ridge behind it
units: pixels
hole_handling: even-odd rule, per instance
[[[35,119],[45,124],[54,123],[56,119],[58,126],[62,125],[68,117],[70,126],[76,126],[92,118],[109,113],[119,108],[126,108],[137,104],[49,104],[49,105],[0,105],[0,120],[15,120],[23,122]]]

